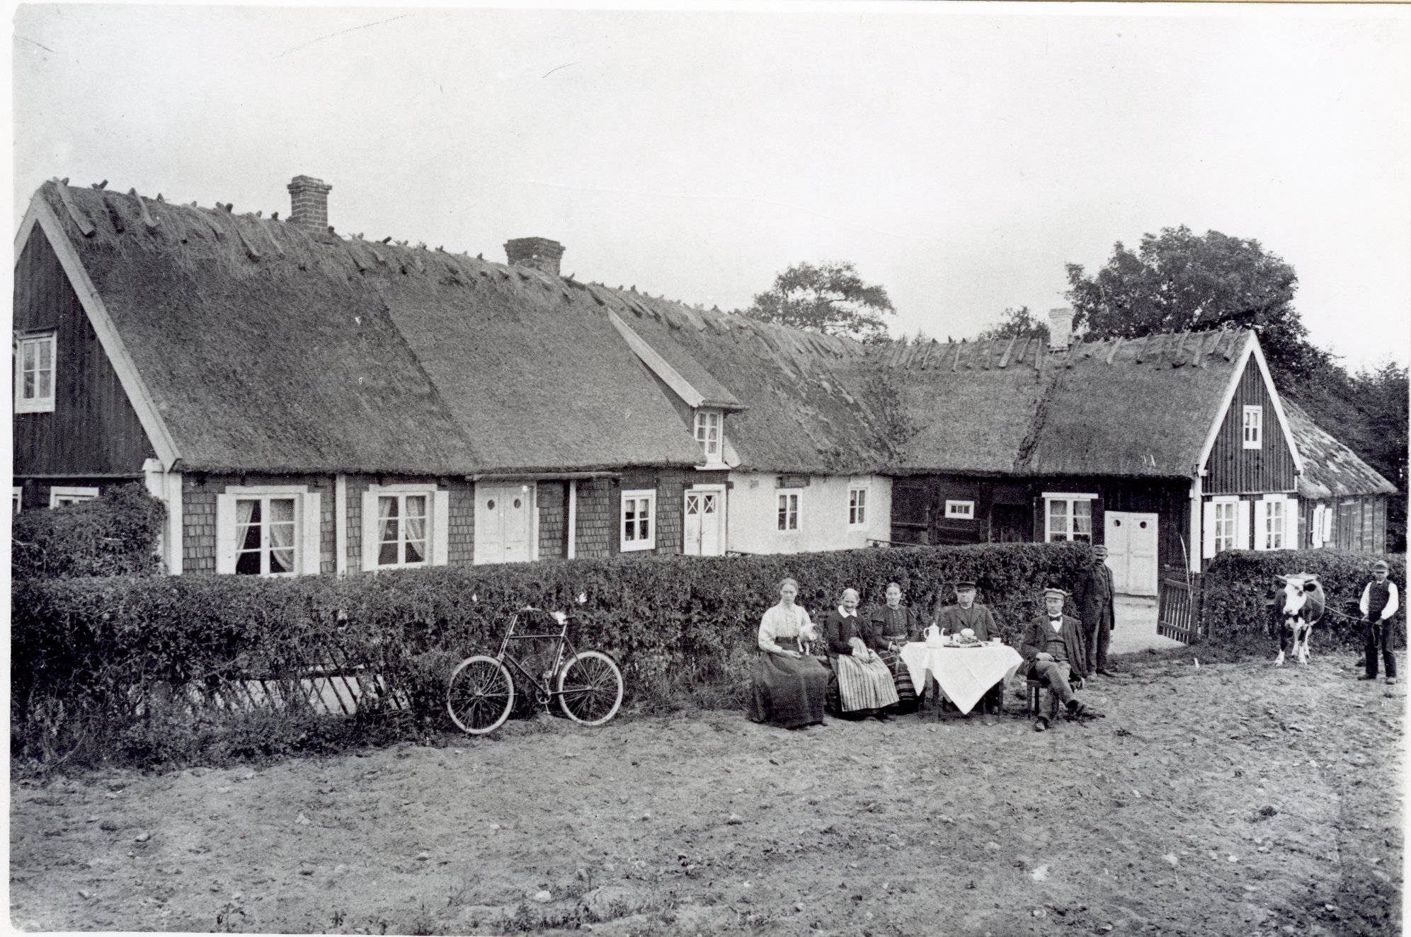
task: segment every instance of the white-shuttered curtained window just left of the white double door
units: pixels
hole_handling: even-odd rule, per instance
[[[430,483],[373,484],[363,492],[363,570],[444,566],[450,492]]]

